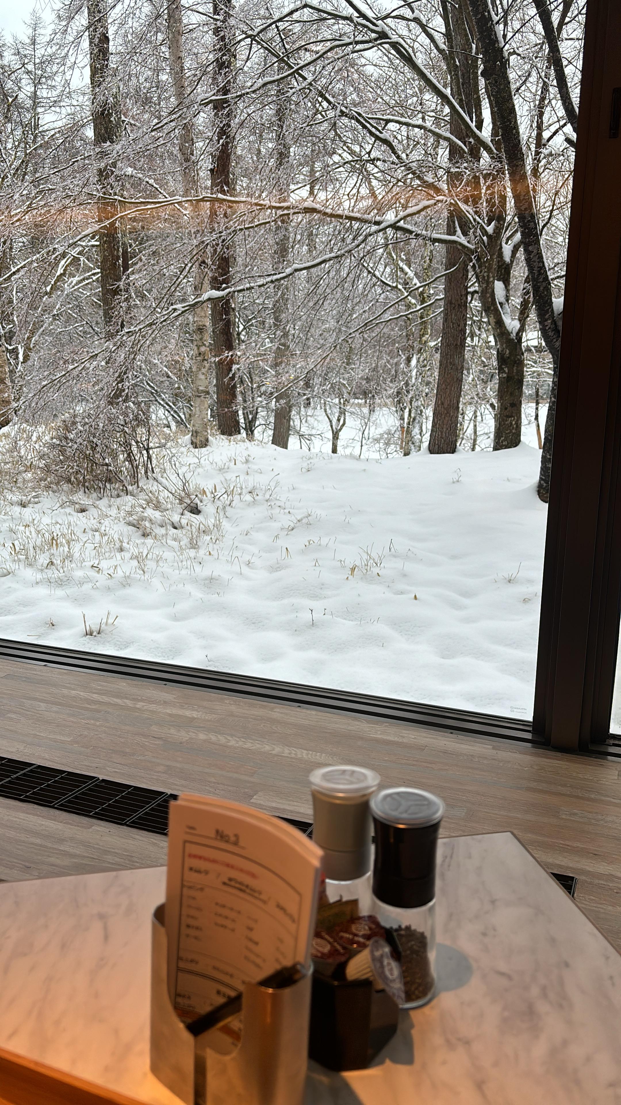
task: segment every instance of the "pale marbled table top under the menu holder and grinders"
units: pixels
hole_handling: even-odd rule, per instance
[[[148,1065],[164,887],[164,869],[0,885],[0,1049],[179,1105]],[[440,841],[438,939],[433,1001],[369,1070],[310,1064],[306,1105],[621,1105],[621,957],[511,833]]]

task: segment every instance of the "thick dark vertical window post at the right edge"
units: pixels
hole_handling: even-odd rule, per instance
[[[608,738],[621,610],[620,41],[588,0],[533,723],[568,751]]]

